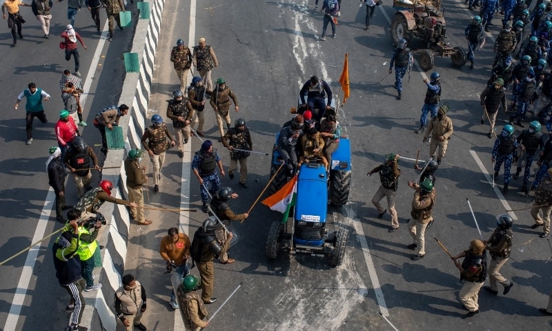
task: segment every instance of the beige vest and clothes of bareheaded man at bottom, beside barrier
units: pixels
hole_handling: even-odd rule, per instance
[[[136,286],[132,290],[125,290],[121,286],[115,292],[115,312],[121,320],[130,321],[130,326],[126,327],[126,331],[133,331],[134,325],[141,324],[142,305],[146,304],[146,291],[142,288],[139,281],[135,281]]]

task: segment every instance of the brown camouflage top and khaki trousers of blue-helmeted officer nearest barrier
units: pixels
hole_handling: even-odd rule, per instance
[[[168,139],[175,141],[170,132],[168,132],[167,125],[161,123],[159,126],[148,126],[142,135],[142,145],[150,152],[153,152],[151,161],[153,163],[153,183],[159,185],[161,179],[161,168],[165,162],[165,152],[168,149]]]

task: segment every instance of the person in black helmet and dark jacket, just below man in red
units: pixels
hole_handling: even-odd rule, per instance
[[[90,168],[92,167],[90,163],[93,163],[94,168],[99,170],[96,153],[86,144],[83,137],[77,136],[67,149],[63,162],[72,174],[80,199],[84,195],[85,188],[86,190],[91,189],[92,172],[90,172]]]

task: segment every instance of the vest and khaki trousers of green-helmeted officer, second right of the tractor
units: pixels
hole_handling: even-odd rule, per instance
[[[420,192],[414,193],[414,199],[412,200],[411,220],[408,222],[408,230],[413,241],[417,244],[418,255],[422,256],[426,254],[425,250],[425,232],[427,224],[433,221],[431,212],[433,212],[433,205],[435,205],[435,188],[429,192],[422,194]]]

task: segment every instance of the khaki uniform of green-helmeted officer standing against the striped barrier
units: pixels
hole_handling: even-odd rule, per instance
[[[130,216],[138,223],[146,223],[144,218],[144,192],[142,192],[142,185],[147,181],[146,174],[140,167],[140,163],[130,158],[125,160],[125,173],[128,200],[138,205],[137,208],[130,207]]]

